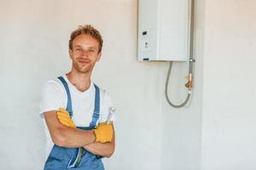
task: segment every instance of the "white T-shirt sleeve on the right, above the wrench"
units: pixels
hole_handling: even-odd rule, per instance
[[[102,105],[101,105],[101,115],[99,122],[106,122],[108,120],[108,114],[110,107],[113,107],[112,100],[105,90],[102,90]],[[115,113],[111,117],[111,121],[115,121]]]

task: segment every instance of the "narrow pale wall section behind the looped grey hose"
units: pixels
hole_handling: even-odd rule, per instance
[[[201,169],[201,107],[202,68],[204,41],[204,0],[195,1],[195,80],[189,105],[174,109],[164,97],[166,68],[162,68],[161,114],[162,142],[161,169],[199,170]],[[181,104],[186,99],[188,63],[173,63],[169,84],[169,97],[173,104]]]

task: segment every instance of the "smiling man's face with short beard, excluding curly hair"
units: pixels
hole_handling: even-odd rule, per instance
[[[92,71],[96,61],[101,58],[98,54],[99,42],[90,35],[81,34],[73,40],[73,49],[69,49],[70,58],[73,60],[73,69],[80,73]]]

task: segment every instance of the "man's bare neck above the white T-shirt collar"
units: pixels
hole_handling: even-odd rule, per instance
[[[71,82],[80,92],[84,92],[90,88],[90,73],[79,73],[78,71],[70,71],[67,73],[67,79]]]

